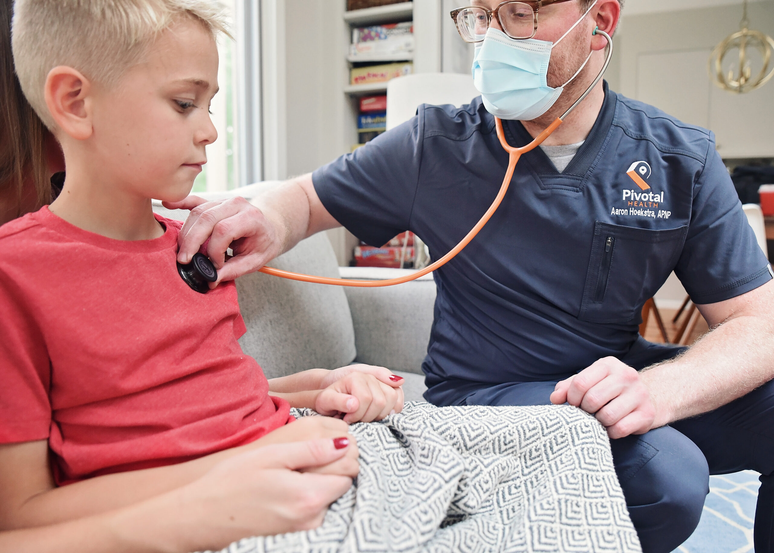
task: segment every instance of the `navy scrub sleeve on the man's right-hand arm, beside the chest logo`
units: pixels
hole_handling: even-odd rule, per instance
[[[772,279],[721,156],[711,140],[675,273],[696,304],[740,296]]]

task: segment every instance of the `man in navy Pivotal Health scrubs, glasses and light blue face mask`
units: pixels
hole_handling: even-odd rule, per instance
[[[259,208],[177,204],[198,205],[180,261],[211,235],[230,280],[341,225],[375,246],[410,230],[433,259],[456,245],[505,174],[492,114],[512,146],[538,136],[601,71],[607,40],[594,29],[612,35],[623,2],[471,3],[456,22],[478,41],[481,98],[422,105]],[[228,246],[237,256],[224,264]],[[687,351],[638,335],[643,304],[672,271],[713,328]],[[600,82],[522,156],[488,225],[434,277],[427,400],[594,414],[646,553],[694,531],[709,474],[758,471],[755,551],[774,551],[774,283],[711,132]]]

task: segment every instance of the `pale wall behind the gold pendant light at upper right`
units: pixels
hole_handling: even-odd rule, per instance
[[[774,82],[734,94],[714,86],[707,72],[711,50],[738,30],[741,5],[643,15],[627,9],[618,36],[623,94],[711,129],[721,156],[774,156]],[[772,0],[751,2],[748,10],[752,29],[774,35]]]

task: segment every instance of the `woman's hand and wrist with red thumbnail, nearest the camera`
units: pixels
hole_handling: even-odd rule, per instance
[[[169,539],[165,550],[173,551],[218,550],[248,536],[311,530],[352,484],[348,476],[313,472],[354,446],[339,438],[235,455],[193,483],[119,513],[112,525],[128,534],[127,541]]]

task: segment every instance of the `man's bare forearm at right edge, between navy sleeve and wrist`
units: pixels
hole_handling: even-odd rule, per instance
[[[655,426],[717,409],[774,378],[774,313],[738,316],[685,355],[642,373]]]

